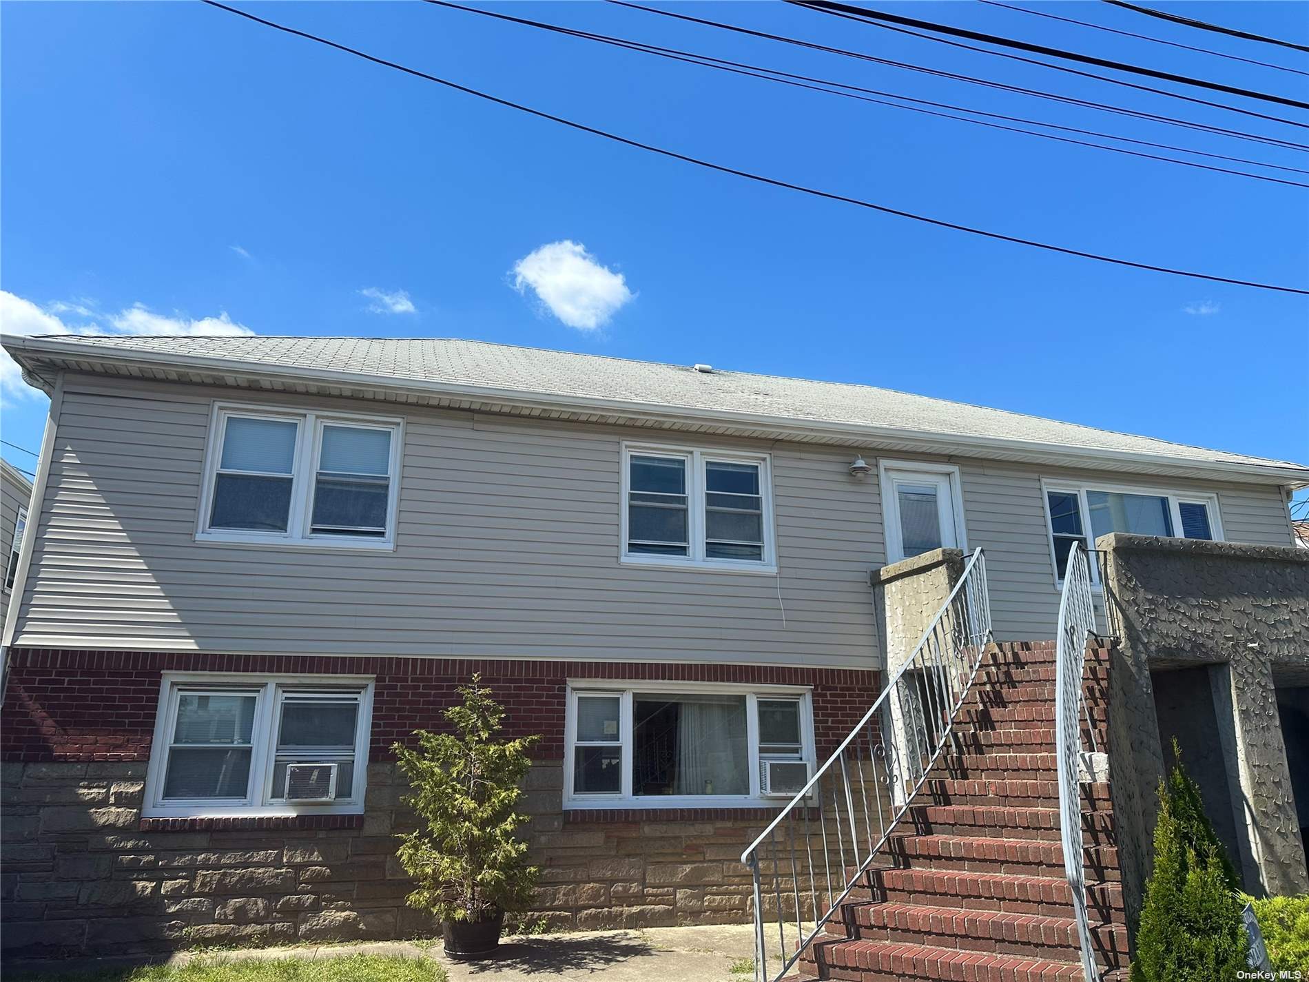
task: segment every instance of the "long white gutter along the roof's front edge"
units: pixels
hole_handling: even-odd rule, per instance
[[[526,391],[522,389],[501,389],[492,385],[466,382],[402,380],[393,376],[374,376],[360,372],[343,372],[339,369],[305,368],[300,365],[270,365],[260,361],[245,361],[211,355],[127,351],[123,348],[107,348],[94,343],[63,339],[52,340],[26,335],[0,334],[0,344],[3,344],[9,354],[16,357],[21,354],[26,354],[60,359],[75,357],[105,364],[135,365],[165,371],[202,369],[229,377],[247,376],[264,381],[281,382],[313,381],[319,384],[335,384],[351,389],[376,389],[395,394],[427,394],[442,395],[448,398],[469,398],[482,402],[499,402],[525,409],[542,409],[562,412],[590,411],[611,415],[634,415],[658,422],[691,423],[700,426],[737,424],[757,429],[767,429],[771,433],[783,432],[801,437],[829,436],[846,439],[852,443],[857,443],[860,440],[914,443],[923,444],[927,448],[939,448],[936,452],[946,454],[952,450],[957,452],[959,448],[970,448],[974,450],[1009,450],[1014,453],[1049,454],[1052,457],[1066,458],[1071,461],[1071,466],[1077,466],[1080,464],[1093,465],[1101,461],[1115,461],[1149,467],[1170,466],[1177,469],[1190,469],[1192,471],[1213,471],[1216,475],[1221,474],[1228,478],[1240,475],[1238,479],[1246,481],[1250,478],[1274,478],[1276,483],[1289,487],[1309,486],[1309,467],[1293,464],[1278,465],[1270,462],[1259,465],[1236,461],[1169,457],[1135,450],[1069,446],[1067,444],[1049,444],[1035,440],[1016,440],[1012,437],[940,433],[898,427],[877,427],[865,423],[804,423],[789,416],[772,416],[740,410],[709,410],[694,406],[670,407],[639,399],[610,399],[596,395]]]

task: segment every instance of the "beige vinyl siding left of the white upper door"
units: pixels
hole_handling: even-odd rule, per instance
[[[16,644],[878,664],[877,488],[844,450],[771,449],[779,576],[619,564],[639,431],[437,410],[406,414],[394,551],[196,543],[213,399],[253,401],[65,380]]]

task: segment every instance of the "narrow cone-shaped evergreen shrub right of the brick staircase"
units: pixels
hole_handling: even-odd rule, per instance
[[[1155,872],[1145,882],[1131,982],[1234,982],[1250,947],[1245,903],[1175,740],[1173,755],[1158,787]]]

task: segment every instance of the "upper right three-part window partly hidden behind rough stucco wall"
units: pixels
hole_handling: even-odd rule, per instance
[[[1063,583],[1073,542],[1094,549],[1111,532],[1138,536],[1221,539],[1219,499],[1208,494],[1174,494],[1106,484],[1045,482],[1046,517],[1055,579]],[[1098,580],[1096,563],[1092,579]]]

